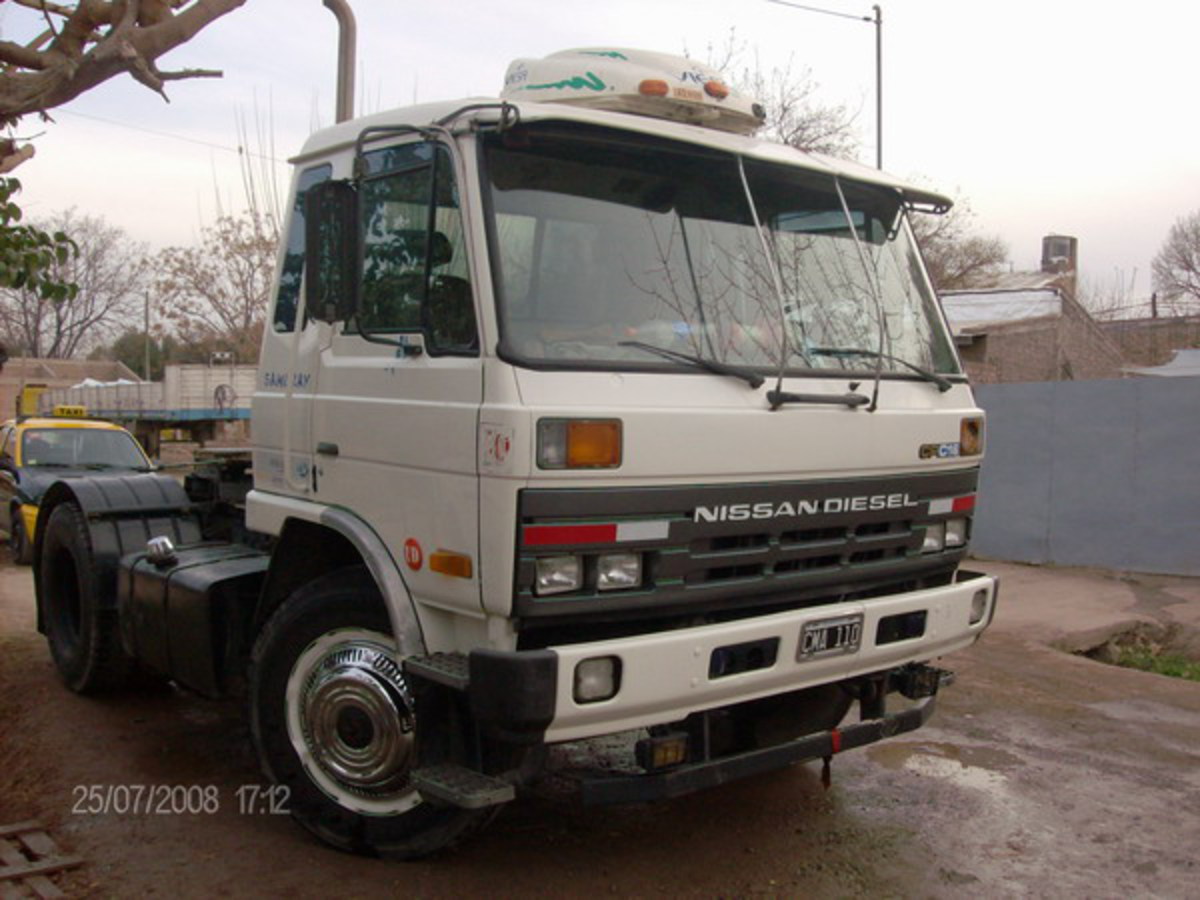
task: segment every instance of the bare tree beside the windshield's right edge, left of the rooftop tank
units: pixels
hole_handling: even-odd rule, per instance
[[[962,202],[949,212],[912,216],[912,230],[925,268],[938,290],[986,287],[1008,262],[1008,246],[995,235],[971,230],[974,212]]]

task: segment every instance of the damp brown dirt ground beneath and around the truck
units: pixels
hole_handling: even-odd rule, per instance
[[[163,689],[83,700],[0,565],[0,824],[38,817],[85,865],[72,896],[1092,896],[1200,893],[1200,684],[1061,648],[1139,620],[1200,625],[1200,580],[980,564],[991,630],[943,660],[925,728],[649,806],[535,790],[418,863],[328,850],[239,810],[262,784],[236,704]],[[118,786],[188,787],[214,811],[86,811]]]

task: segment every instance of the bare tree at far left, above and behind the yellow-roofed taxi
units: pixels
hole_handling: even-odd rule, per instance
[[[74,235],[77,252],[56,258],[49,277],[73,283],[73,299],[47,298],[34,286],[0,289],[0,331],[10,348],[61,359],[103,342],[142,308],[146,256],[116,226],[66,210],[41,227]]]

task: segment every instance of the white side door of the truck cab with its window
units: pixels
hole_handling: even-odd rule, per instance
[[[478,610],[482,364],[454,157],[410,140],[358,169],[358,311],[322,325],[313,494],[376,530],[414,596]],[[432,572],[437,551],[472,574]]]

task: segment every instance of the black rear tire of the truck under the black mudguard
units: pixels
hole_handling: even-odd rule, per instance
[[[40,566],[46,640],[59,677],[76,694],[124,686],[133,661],[121,647],[114,598],[101,583],[83,511],[54,508],[42,538]]]

